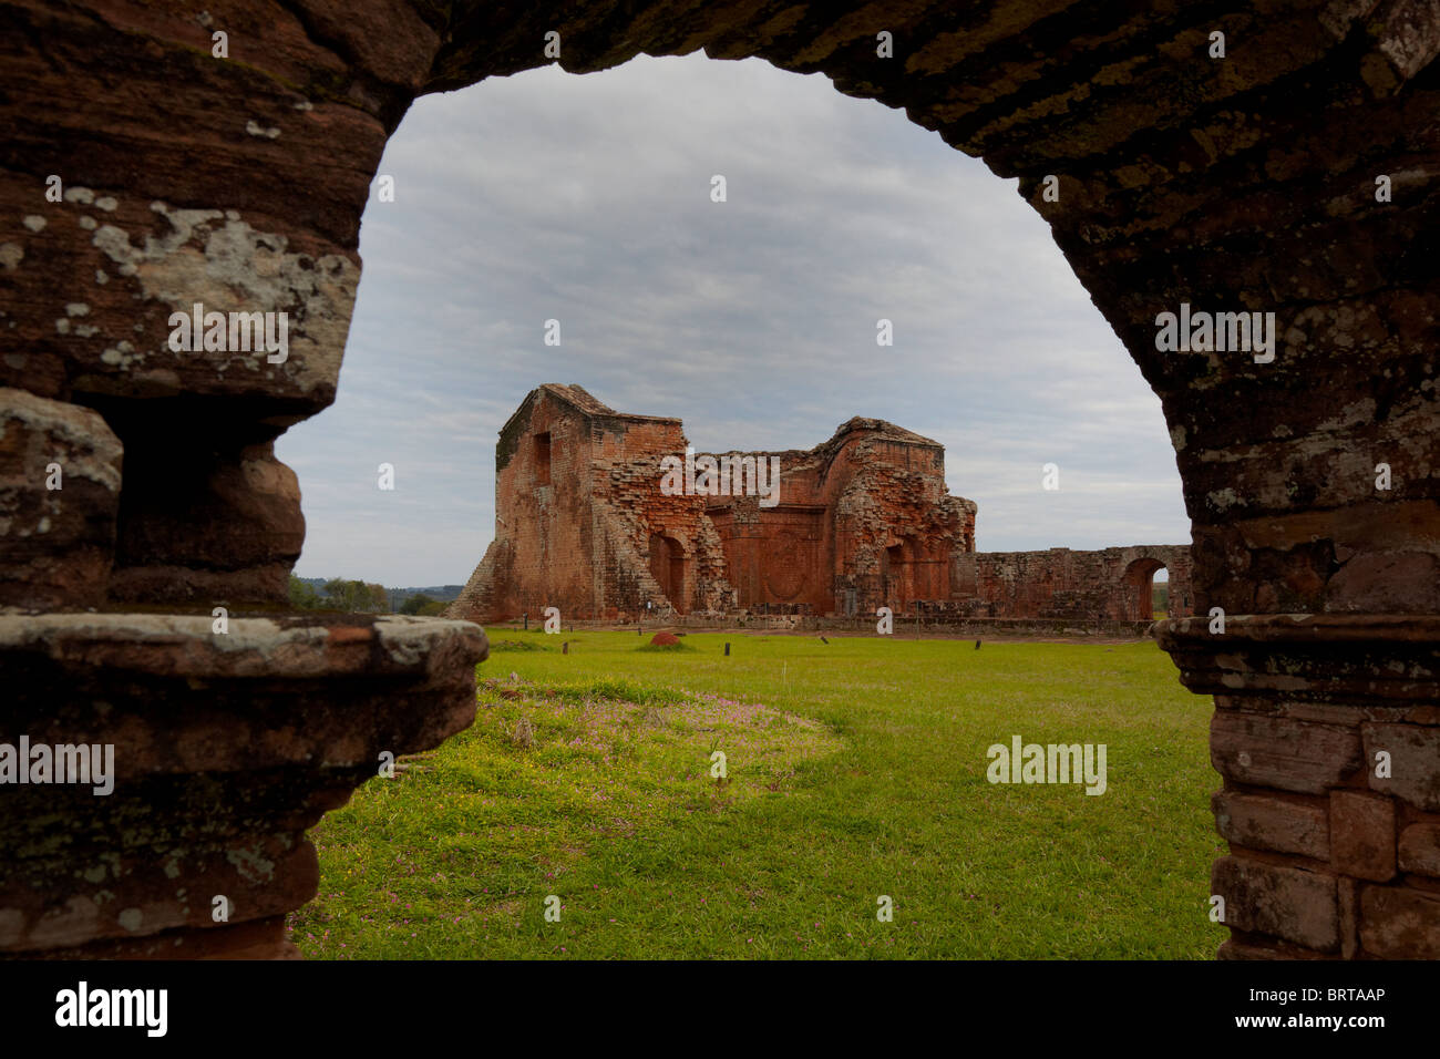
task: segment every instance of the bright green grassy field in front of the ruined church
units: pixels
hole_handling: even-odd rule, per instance
[[[1210,700],[1152,643],[490,637],[474,728],[315,828],[305,957],[1208,960],[1225,937]],[[1107,790],[988,782],[1014,735],[1104,743]]]

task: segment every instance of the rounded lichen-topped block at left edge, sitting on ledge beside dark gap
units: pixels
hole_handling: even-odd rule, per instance
[[[104,602],[121,454],[99,414],[0,389],[0,607]]]

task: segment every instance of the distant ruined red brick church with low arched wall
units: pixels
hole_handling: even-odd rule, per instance
[[[495,539],[448,614],[873,624],[888,607],[935,621],[1149,622],[1162,568],[1171,612],[1194,612],[1188,545],[976,552],[975,503],[946,491],[945,450],[881,419],[851,419],[805,452],[693,454],[742,473],[667,493],[661,461],[687,450],[678,419],[625,415],[579,386],[533,390],[495,447]],[[775,480],[752,468],[769,465],[779,486],[766,497]]]

